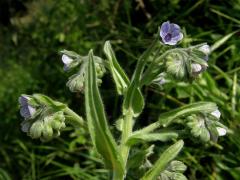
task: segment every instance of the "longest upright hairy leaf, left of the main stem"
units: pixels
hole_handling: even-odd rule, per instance
[[[107,168],[124,173],[122,157],[107,124],[102,99],[97,85],[93,52],[89,52],[89,62],[85,79],[85,105],[89,132]]]

